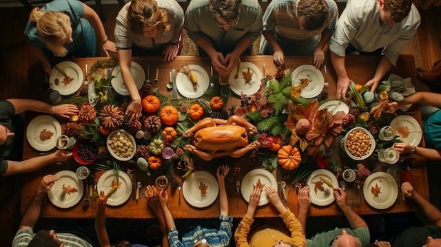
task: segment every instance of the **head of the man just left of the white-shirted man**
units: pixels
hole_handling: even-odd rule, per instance
[[[325,0],[300,0],[297,2],[297,18],[300,28],[307,32],[320,30],[329,15]]]

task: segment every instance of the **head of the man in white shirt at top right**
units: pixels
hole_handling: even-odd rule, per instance
[[[407,17],[411,11],[412,0],[378,0],[378,4],[381,20],[393,25]]]

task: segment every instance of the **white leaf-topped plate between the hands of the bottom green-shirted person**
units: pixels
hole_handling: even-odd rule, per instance
[[[326,169],[318,169],[316,171],[313,171],[311,175],[309,175],[307,185],[309,186],[309,188],[311,188],[311,191],[309,192],[311,202],[316,204],[317,206],[327,206],[334,202],[334,200],[336,200],[333,192],[334,188],[329,188],[327,184],[323,183],[323,191],[314,191],[314,186],[316,185],[316,182],[322,181],[320,177],[329,180],[329,182],[334,185],[334,188],[338,188],[338,180],[334,173],[331,173]]]

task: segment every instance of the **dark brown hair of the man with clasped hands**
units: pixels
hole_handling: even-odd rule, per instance
[[[242,0],[208,0],[208,8],[213,14],[217,14],[229,24],[237,23]]]

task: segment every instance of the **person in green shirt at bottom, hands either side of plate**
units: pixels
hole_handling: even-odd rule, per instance
[[[311,206],[309,191],[309,186],[300,187],[298,191],[298,220],[304,229],[306,228],[309,206]],[[350,228],[335,228],[327,232],[316,233],[311,239],[306,239],[307,246],[369,246],[369,228],[366,222],[346,204],[345,191],[342,188],[334,188],[334,195],[338,207],[349,222]]]

